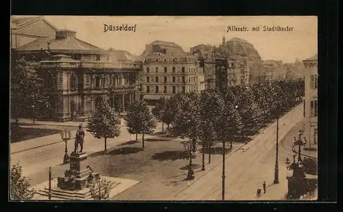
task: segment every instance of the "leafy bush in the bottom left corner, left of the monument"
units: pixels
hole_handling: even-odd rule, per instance
[[[12,200],[31,200],[35,190],[29,188],[29,178],[22,176],[21,165],[12,165],[10,173],[10,196]]]

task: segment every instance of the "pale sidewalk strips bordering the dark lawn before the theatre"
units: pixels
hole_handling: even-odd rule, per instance
[[[24,122],[27,120],[23,120]],[[19,123],[24,123],[24,122],[19,122]],[[32,120],[31,120],[32,122]],[[27,122],[25,122],[27,123]],[[75,124],[75,127],[78,127],[80,122],[41,122],[40,124],[42,125],[55,125],[55,126],[67,126],[67,125],[62,125],[62,124]],[[39,124],[38,122],[36,122],[36,124]],[[57,125],[60,124],[60,125]],[[82,126],[86,127],[86,122],[84,122],[82,124]],[[124,120],[121,120],[121,125],[120,127],[126,126],[126,122]],[[70,127],[70,125],[68,125],[68,127]],[[75,139],[75,133],[76,133],[76,128],[75,131],[71,131],[71,140]],[[36,137],[34,139],[31,140],[26,140],[23,142],[16,142],[16,143],[11,143],[10,145],[10,153],[11,154],[16,154],[16,153],[21,153],[25,150],[32,150],[34,148],[40,148],[43,146],[47,146],[47,145],[52,145],[52,144],[57,144],[59,142],[63,142],[63,140],[61,139],[60,134],[54,134],[54,135],[47,135],[47,136],[43,136],[43,137]]]

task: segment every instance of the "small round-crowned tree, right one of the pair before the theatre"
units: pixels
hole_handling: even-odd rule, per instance
[[[144,135],[152,133],[156,128],[156,118],[144,100],[134,101],[128,107],[126,127],[129,133],[136,134],[136,140],[137,134],[142,134],[142,149],[144,149]]]

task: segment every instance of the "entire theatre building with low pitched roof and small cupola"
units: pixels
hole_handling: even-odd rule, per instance
[[[56,30],[54,38],[39,38],[16,49],[17,57],[38,62],[49,88],[49,119],[84,120],[102,96],[116,111],[139,96],[141,67],[115,62],[115,55],[76,38],[76,32]]]

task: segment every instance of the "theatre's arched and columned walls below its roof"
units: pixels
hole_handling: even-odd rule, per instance
[[[95,111],[95,99],[102,96],[115,111],[126,108],[138,98],[138,68],[106,67],[82,68],[80,62],[73,61],[67,55],[60,59],[69,59],[69,64],[58,60],[40,62],[40,68],[49,70],[52,80],[51,95],[55,105],[56,121],[85,120]],[[47,72],[45,72],[47,73]]]

